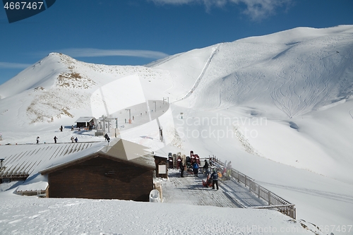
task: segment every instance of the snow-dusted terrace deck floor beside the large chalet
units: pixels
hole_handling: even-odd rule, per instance
[[[237,181],[219,181],[220,189],[216,191],[203,187],[203,179],[202,174],[194,177],[186,171],[181,178],[179,171],[169,170],[168,181],[162,181],[163,202],[239,208],[268,205]]]

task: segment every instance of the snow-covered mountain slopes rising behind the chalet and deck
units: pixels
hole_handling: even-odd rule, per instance
[[[16,131],[25,133],[26,143],[34,130],[109,116],[140,102],[136,97],[168,97],[169,145],[156,143],[158,129],[148,123],[122,131],[124,138],[153,136],[143,144],[161,154],[196,150],[232,160],[297,204],[299,217],[347,224],[353,220],[347,210],[353,209],[352,52],[353,25],[341,25],[220,43],[146,66],[88,64],[52,53],[0,85],[0,131],[9,140],[16,135],[16,143]]]

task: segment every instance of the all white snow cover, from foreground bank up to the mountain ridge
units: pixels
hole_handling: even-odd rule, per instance
[[[104,141],[93,131],[60,132],[59,126],[168,97],[158,119],[121,128],[121,137],[166,157],[193,150],[231,160],[234,169],[294,203],[297,220],[275,210],[188,205],[172,185],[166,188],[174,201],[136,203],[23,197],[13,194],[17,183],[1,185],[0,233],[353,234],[352,34],[352,25],[296,28],[148,66],[86,64],[53,53],[0,86],[1,145],[35,143],[38,135],[43,145],[54,135],[59,143],[71,135]],[[121,93],[133,95],[114,97]],[[209,193],[217,198],[222,190]]]

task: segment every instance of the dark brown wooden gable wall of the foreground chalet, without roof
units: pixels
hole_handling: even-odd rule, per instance
[[[95,157],[48,174],[49,198],[148,201],[152,170]]]

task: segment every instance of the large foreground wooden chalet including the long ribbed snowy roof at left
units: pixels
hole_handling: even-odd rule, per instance
[[[148,201],[153,189],[153,155],[126,140],[1,145],[0,152],[1,183],[25,180],[20,195]]]

